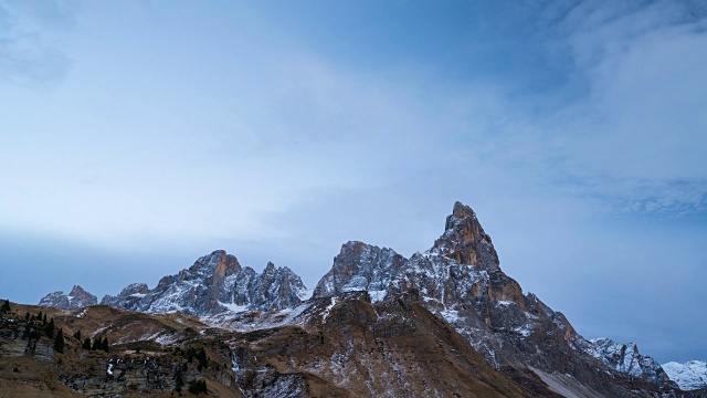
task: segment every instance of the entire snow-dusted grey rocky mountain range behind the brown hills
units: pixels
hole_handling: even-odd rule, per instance
[[[45,305],[64,305],[63,294],[57,293]],[[500,269],[490,237],[474,211],[461,202],[454,205],[432,248],[410,258],[363,242],[345,243],[312,297],[303,303],[306,295],[302,280],[289,269],[268,263],[258,274],[219,250],[178,274],[162,277],[152,290],[134,283],[101,303],[145,313],[180,311],[202,316],[204,322],[217,320],[219,327],[255,332],[291,325],[296,314],[313,305],[326,320],[338,303],[363,301],[378,308],[377,304],[403,300],[408,303],[403,306],[421,305],[444,320],[439,321],[440,327],[453,328],[490,365],[524,386],[549,386],[560,395],[577,397],[654,396],[677,388],[634,344],[584,339],[560,312],[524,293]],[[261,315],[253,312],[266,312],[267,322],[254,322]],[[360,322],[368,318],[362,316]],[[362,355],[351,349],[347,355]],[[692,383],[699,378],[683,379]]]

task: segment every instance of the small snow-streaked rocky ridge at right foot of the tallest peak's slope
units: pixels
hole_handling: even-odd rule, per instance
[[[593,338],[584,341],[580,347],[587,354],[603,362],[612,369],[630,376],[641,377],[659,386],[671,384],[671,377],[663,367],[650,356],[639,353],[639,347],[633,344],[620,344],[611,338]]]

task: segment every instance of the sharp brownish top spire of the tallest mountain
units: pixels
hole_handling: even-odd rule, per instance
[[[471,207],[457,201],[447,216],[444,233],[434,242],[432,252],[461,264],[499,270],[498,254]]]

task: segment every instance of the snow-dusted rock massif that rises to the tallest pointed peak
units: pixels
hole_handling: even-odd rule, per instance
[[[531,369],[548,377],[547,383],[556,375],[570,375],[555,381],[574,384],[570,389],[580,396],[631,395],[615,387],[614,378],[621,374],[604,371],[579,348],[591,343],[561,313],[534,294],[524,294],[500,270],[490,238],[474,211],[460,202],[433,247],[410,259],[361,242],[344,244],[314,297],[359,290],[368,291],[373,302],[415,292],[425,308],[449,322],[499,369]],[[658,369],[641,375],[650,383],[669,383]]]

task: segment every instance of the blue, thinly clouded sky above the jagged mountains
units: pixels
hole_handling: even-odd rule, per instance
[[[0,0],[0,297],[308,287],[455,201],[587,338],[707,359],[703,1]]]

